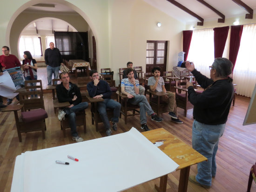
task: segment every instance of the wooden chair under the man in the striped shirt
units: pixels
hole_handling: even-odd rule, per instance
[[[121,104],[120,118],[121,118],[121,114],[123,114],[124,115],[124,123],[127,124],[127,117],[140,114],[140,111],[138,110],[140,108],[140,106],[132,105],[132,104],[128,103],[127,95],[121,93],[121,85],[119,85],[119,89],[116,92],[116,94],[118,95],[119,103]],[[128,114],[129,111],[132,111],[132,114]]]

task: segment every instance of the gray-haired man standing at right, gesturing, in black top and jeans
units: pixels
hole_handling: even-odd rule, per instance
[[[187,84],[189,101],[194,105],[192,147],[208,159],[197,164],[197,175],[189,176],[189,180],[195,185],[210,188],[212,177],[216,175],[219,139],[223,135],[234,94],[233,79],[229,78],[233,64],[226,58],[216,58],[209,66],[211,79],[198,72],[193,63],[186,61],[185,66],[204,88],[202,94],[196,94],[193,84]]]

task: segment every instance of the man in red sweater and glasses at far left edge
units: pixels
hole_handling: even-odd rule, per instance
[[[20,61],[15,55],[10,54],[10,48],[8,46],[2,47],[2,55],[0,55],[0,65],[2,69],[10,69],[14,67],[21,66]],[[16,89],[20,88],[20,86],[16,86]],[[19,95],[16,98],[19,100]],[[13,99],[7,99],[7,105],[10,105],[13,102]]]

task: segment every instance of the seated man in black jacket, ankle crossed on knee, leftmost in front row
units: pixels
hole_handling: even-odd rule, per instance
[[[63,118],[65,119],[65,115],[67,114],[69,118],[69,126],[71,128],[72,139],[76,142],[81,142],[83,139],[78,136],[76,132],[76,123],[75,123],[75,112],[84,110],[88,107],[87,102],[82,102],[82,97],[79,88],[69,82],[68,73],[61,73],[59,75],[61,84],[56,86],[56,93],[59,102],[69,102],[70,106],[65,107],[63,110],[59,110],[58,118],[61,121]]]

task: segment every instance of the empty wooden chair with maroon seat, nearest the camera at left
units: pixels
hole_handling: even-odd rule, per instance
[[[38,95],[32,98],[31,95]],[[17,125],[18,137],[20,142],[21,132],[41,131],[43,139],[45,139],[46,123],[48,117],[44,107],[44,99],[42,91],[21,92],[19,93],[21,108],[21,116]]]

